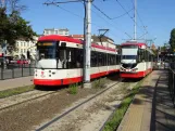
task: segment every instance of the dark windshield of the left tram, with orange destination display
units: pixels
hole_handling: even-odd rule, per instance
[[[57,42],[43,41],[37,43],[38,60],[42,58],[55,58],[57,56]]]

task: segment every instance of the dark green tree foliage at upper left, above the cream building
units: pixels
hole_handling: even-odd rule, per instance
[[[7,14],[7,9],[0,8],[0,42],[7,40],[9,44],[14,45],[17,39],[33,40],[34,36],[37,36],[36,32],[29,22],[20,16],[20,12]]]

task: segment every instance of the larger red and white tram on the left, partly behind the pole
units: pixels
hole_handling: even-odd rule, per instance
[[[64,36],[42,36],[37,42],[36,86],[62,86],[83,81],[84,41]],[[120,71],[116,45],[91,43],[90,79]]]

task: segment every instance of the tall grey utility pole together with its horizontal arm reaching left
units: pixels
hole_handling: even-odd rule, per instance
[[[84,88],[91,88],[90,83],[90,49],[91,49],[91,2],[92,0],[67,0],[64,2],[45,2],[43,4],[61,4],[70,2],[83,2],[85,8],[84,18]]]

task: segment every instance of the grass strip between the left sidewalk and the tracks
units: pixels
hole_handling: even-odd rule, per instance
[[[28,92],[28,91],[33,91],[34,89],[35,89],[35,86],[25,86],[25,87],[18,87],[15,89],[9,89],[5,91],[0,91],[0,99],[21,94],[21,93]]]

